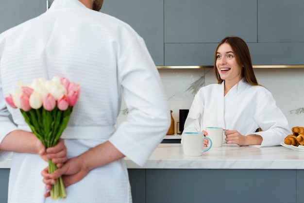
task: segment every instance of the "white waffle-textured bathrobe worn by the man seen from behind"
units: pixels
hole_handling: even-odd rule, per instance
[[[81,85],[62,135],[69,157],[109,140],[142,166],[166,135],[169,106],[143,39],[129,25],[87,9],[78,0],[54,0],[46,13],[0,35],[0,142],[11,131],[30,131],[19,110],[9,107],[4,97],[17,82],[54,76]],[[121,94],[129,113],[117,127]],[[0,151],[0,160],[7,154]],[[132,202],[123,159],[93,169],[58,201],[43,197],[41,171],[47,165],[36,154],[13,153],[9,203]]]

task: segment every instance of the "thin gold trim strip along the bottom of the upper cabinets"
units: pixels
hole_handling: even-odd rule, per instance
[[[213,66],[156,66],[158,69],[197,69],[213,68]],[[304,68],[304,65],[257,65],[253,68]]]

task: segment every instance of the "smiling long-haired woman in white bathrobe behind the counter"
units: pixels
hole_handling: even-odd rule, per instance
[[[270,91],[257,83],[241,38],[226,37],[219,43],[214,73],[218,84],[204,86],[195,95],[183,132],[207,135],[206,127],[222,127],[227,144],[261,147],[280,145],[292,134]]]

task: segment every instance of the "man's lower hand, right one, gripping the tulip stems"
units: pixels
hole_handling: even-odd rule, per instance
[[[56,183],[56,179],[60,176],[62,177],[64,186],[68,187],[81,181],[88,174],[88,172],[89,170],[84,167],[84,164],[79,156],[69,159],[61,168],[55,170],[51,174],[49,174],[48,167],[45,168],[41,172],[41,175],[43,176],[43,183],[45,183],[46,189],[48,190],[44,194],[44,197],[50,197],[51,186]]]

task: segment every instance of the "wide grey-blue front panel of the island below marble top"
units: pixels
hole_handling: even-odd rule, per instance
[[[146,169],[146,203],[302,203],[297,171]]]

